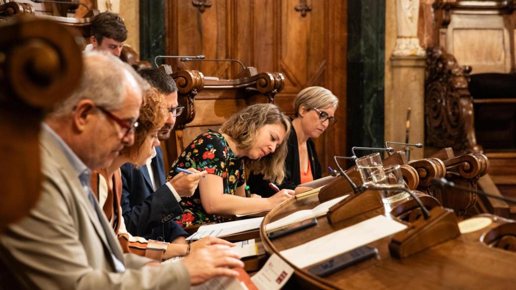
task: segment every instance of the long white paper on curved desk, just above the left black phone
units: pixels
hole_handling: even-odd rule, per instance
[[[265,225],[265,231],[271,232],[274,230],[288,227],[288,225],[291,225],[291,224],[294,224],[294,223],[297,223],[297,222],[300,222],[303,220],[324,216],[324,215],[326,215],[326,213],[328,213],[328,210],[330,207],[337,204],[339,201],[345,199],[348,196],[349,195],[345,195],[342,197],[337,197],[337,198],[331,199],[329,201],[326,201],[326,202],[323,202],[323,203],[317,205],[316,207],[312,208],[311,210],[297,211],[284,218],[280,218],[277,221],[268,223],[267,225]]]

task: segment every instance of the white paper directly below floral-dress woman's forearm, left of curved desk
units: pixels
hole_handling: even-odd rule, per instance
[[[201,225],[197,232],[187,237],[186,240],[201,239],[206,236],[221,237],[256,230],[260,228],[262,220],[263,217],[258,217],[230,222]]]

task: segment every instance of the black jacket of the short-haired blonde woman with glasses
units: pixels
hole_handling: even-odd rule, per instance
[[[308,157],[310,161],[310,168],[314,180],[322,177],[321,165],[317,159],[317,151],[315,151],[315,144],[312,139],[307,140]],[[299,148],[297,144],[297,134],[294,126],[291,126],[291,134],[288,136],[288,153],[285,158],[285,179],[278,186],[280,189],[294,189],[301,183],[301,166],[299,165]],[[269,187],[269,181],[263,180],[263,174],[255,174],[251,172],[247,179],[253,194],[261,195],[262,197],[273,196],[276,192]]]

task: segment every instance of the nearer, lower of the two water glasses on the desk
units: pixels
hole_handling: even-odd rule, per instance
[[[396,187],[406,187],[399,165],[385,167],[381,171],[375,171],[372,173],[372,178],[375,186],[385,188],[382,192],[382,201],[386,206],[386,210],[388,209],[387,207],[389,207],[390,210],[391,204],[410,197],[408,192],[395,189]]]

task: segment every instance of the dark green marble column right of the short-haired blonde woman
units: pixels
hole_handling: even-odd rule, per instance
[[[348,1],[347,154],[383,147],[385,0]],[[365,155],[368,152],[361,152]]]

